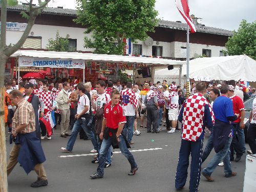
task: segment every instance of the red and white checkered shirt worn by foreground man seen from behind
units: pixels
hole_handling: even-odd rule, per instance
[[[214,114],[205,97],[200,93],[195,93],[188,97],[184,104],[182,139],[188,141],[198,140],[203,132],[204,106],[206,104],[209,106],[211,120],[214,123]]]

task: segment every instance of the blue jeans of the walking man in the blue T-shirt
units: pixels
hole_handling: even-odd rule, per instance
[[[231,144],[232,137],[229,137],[225,143],[224,148],[219,151],[215,156],[211,159],[211,161],[208,163],[207,167],[202,170],[202,172],[208,176],[214,172],[215,168],[218,166],[218,164],[221,162],[223,159],[224,163],[224,173],[225,175],[230,175],[232,173],[231,170],[231,164],[230,164],[230,151],[229,151],[229,146]]]

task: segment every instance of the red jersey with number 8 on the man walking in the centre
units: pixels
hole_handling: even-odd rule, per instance
[[[103,118],[106,119],[106,126],[111,129],[118,129],[119,123],[126,123],[126,117],[122,105],[111,106],[111,101],[104,106]]]

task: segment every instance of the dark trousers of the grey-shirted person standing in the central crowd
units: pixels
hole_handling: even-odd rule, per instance
[[[151,131],[151,124],[153,123],[153,132],[157,131],[157,120],[159,110],[156,105],[146,106],[146,120],[147,120],[147,131]]]

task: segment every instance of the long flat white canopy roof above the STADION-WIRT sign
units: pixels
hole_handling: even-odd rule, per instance
[[[37,57],[37,58],[61,58],[61,59],[79,59],[86,61],[104,61],[104,62],[126,62],[126,63],[144,63],[146,65],[182,65],[184,61],[152,58],[152,57],[134,57],[122,55],[104,55],[93,53],[77,52],[55,52],[55,51],[35,51],[18,50],[11,57]]]

